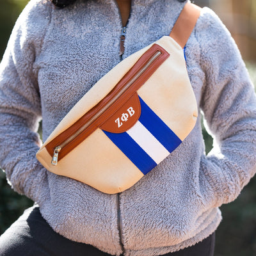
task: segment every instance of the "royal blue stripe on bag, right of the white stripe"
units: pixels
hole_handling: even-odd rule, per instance
[[[155,138],[172,153],[182,142],[180,138],[150,109],[141,99],[141,115],[139,121]]]

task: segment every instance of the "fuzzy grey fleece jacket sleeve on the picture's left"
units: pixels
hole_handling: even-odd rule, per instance
[[[34,201],[41,196],[40,188],[47,188],[46,170],[35,157],[41,118],[35,60],[49,19],[47,4],[29,2],[13,28],[0,65],[0,166],[12,188]]]

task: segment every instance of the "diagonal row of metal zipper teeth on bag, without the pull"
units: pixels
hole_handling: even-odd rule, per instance
[[[131,86],[132,83],[134,83],[140,76],[141,74],[143,74],[143,72],[145,72],[145,70],[147,70],[147,68],[152,64],[152,62],[154,60],[156,60],[156,58],[161,54],[160,51],[157,51],[148,61],[147,63],[143,66],[143,68],[141,68],[132,78],[131,80],[129,80],[127,82],[127,84],[125,84],[124,87],[122,87],[120,89],[120,91],[118,93],[116,93],[116,95],[109,100],[109,102],[102,108],[100,109],[95,115],[92,116],[92,118],[90,120],[88,120],[88,122],[86,122],[82,127],[80,127],[74,134],[72,134],[72,136],[68,137],[67,140],[63,141],[63,143],[61,143],[60,146],[58,146],[61,150],[61,148],[65,147],[68,143],[70,143],[70,141],[74,140],[74,138],[76,138],[81,132],[83,132],[86,128],[88,128],[89,125],[92,124],[93,121],[95,121],[100,115],[102,115],[102,113],[104,113],[104,111],[106,111],[106,109],[108,109],[110,106],[113,105],[113,103],[115,103],[116,100],[118,100],[118,98]],[[59,150],[59,151],[60,151]]]

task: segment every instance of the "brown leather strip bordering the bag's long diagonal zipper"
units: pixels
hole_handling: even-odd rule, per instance
[[[102,123],[104,123],[108,118],[116,113],[116,111],[122,107],[124,102],[127,102],[131,98],[132,95],[148,80],[150,76],[156,71],[156,69],[170,56],[170,54],[163,49],[160,45],[154,44],[148,51],[146,51],[140,59],[132,66],[132,68],[125,74],[125,76],[116,84],[115,88],[111,90],[111,92],[104,97],[104,99],[100,100],[100,102],[94,106],[90,111],[85,113],[77,122],[72,124],[68,129],[61,132],[56,138],[54,138],[52,141],[50,141],[47,145],[45,145],[45,148],[49,152],[49,154],[52,156],[54,152],[54,148],[60,145],[63,141],[67,140],[68,137],[70,137],[71,134],[74,134],[80,127],[83,126],[92,116],[95,115],[95,113],[99,112],[99,109],[101,109],[103,106],[106,105],[109,100],[113,98],[116,93],[120,91],[121,88],[131,79],[132,76],[134,76],[140,69],[147,63],[147,61],[156,53],[157,51],[160,51],[161,54],[154,60],[152,65],[147,68],[143,74],[126,90],[126,92],[120,96],[116,102],[110,106],[99,118],[95,120],[85,131],[81,132],[74,140],[70,141],[67,146],[63,147],[61,151],[59,152],[58,161],[60,161],[63,157],[65,157],[68,152],[70,152],[72,149],[74,149],[79,143],[81,143],[83,140],[85,140],[90,134],[92,134],[93,131],[95,131]]]

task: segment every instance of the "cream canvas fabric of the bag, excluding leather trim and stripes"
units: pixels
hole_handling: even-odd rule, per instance
[[[141,86],[138,95],[182,141],[193,129],[197,117],[196,99],[189,82],[184,52],[170,36],[163,36],[154,44],[163,47],[170,57]],[[51,164],[52,156],[45,145],[99,103],[151,46],[135,52],[116,65],[61,120],[36,154],[38,161],[47,170],[79,180],[109,194],[130,188],[143,177],[141,170],[101,129],[93,132],[56,166]]]

